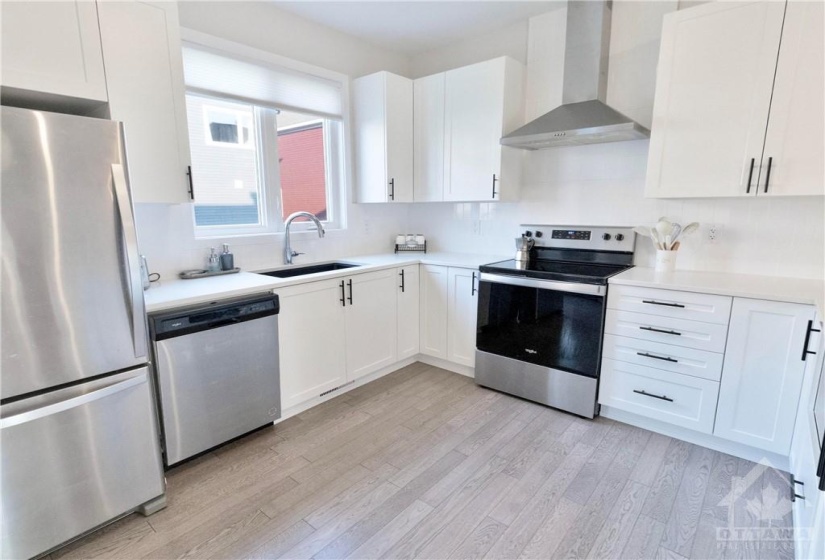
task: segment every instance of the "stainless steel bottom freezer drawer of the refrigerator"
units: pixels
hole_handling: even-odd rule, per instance
[[[148,367],[0,407],[2,558],[29,558],[164,493]]]

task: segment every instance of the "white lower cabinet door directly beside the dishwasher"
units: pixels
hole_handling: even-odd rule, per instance
[[[281,410],[346,383],[343,280],[278,290]]]

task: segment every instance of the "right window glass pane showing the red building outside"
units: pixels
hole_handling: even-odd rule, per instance
[[[278,115],[278,157],[283,218],[305,210],[319,220],[329,219],[324,121],[314,115],[281,111]]]

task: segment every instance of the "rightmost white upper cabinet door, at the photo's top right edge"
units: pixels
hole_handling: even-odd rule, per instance
[[[788,2],[759,196],[825,194],[824,20],[822,2]]]

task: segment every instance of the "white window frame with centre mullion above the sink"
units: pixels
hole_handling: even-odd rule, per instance
[[[352,153],[351,138],[349,134],[350,129],[350,113],[349,113],[349,77],[339,72],[320,68],[311,64],[296,61],[281,55],[276,55],[267,51],[262,51],[247,45],[228,41],[220,37],[215,37],[207,33],[195,31],[189,28],[181,28],[181,38],[185,43],[194,46],[203,46],[211,49],[217,49],[226,52],[228,55],[236,55],[245,57],[251,60],[260,61],[262,64],[274,64],[282,66],[290,70],[296,70],[306,74],[314,75],[319,78],[327,80],[334,80],[341,84],[341,119],[330,119],[319,115],[319,119],[324,122],[324,156],[325,156],[325,174],[327,187],[327,220],[323,220],[324,229],[329,231],[345,230],[347,228],[347,200],[350,185],[352,184],[352,164],[350,154]],[[187,95],[200,95],[210,97],[204,92],[187,91]],[[226,101],[241,101],[234,99],[231,96],[222,97],[219,94],[212,95],[214,99]],[[254,101],[247,101],[254,104]],[[261,105],[256,105],[261,107]],[[274,109],[274,108],[273,108]],[[295,111],[299,113],[312,114],[312,111],[307,111],[301,108],[284,107],[284,110]],[[275,109],[277,110],[277,109]],[[258,177],[262,181],[263,189],[261,189],[261,204],[259,209],[262,215],[263,224],[257,226],[197,226],[195,222],[195,205],[192,204],[192,223],[195,229],[195,238],[208,240],[225,237],[254,237],[261,235],[283,234],[285,229],[285,221],[282,217],[282,201],[281,201],[281,181],[280,181],[280,166],[278,165],[278,143],[277,143],[277,129],[275,127],[262,127],[255,123],[256,138],[261,150],[265,150],[266,157],[259,161]],[[264,142],[262,138],[263,131],[267,130],[268,134],[274,136],[274,142]],[[219,143],[221,145],[231,146],[228,143]],[[242,147],[242,146],[240,146]],[[257,147],[255,148],[257,149]],[[263,169],[261,169],[263,168]],[[312,222],[293,222],[290,230],[293,232],[311,231],[315,229]]]

